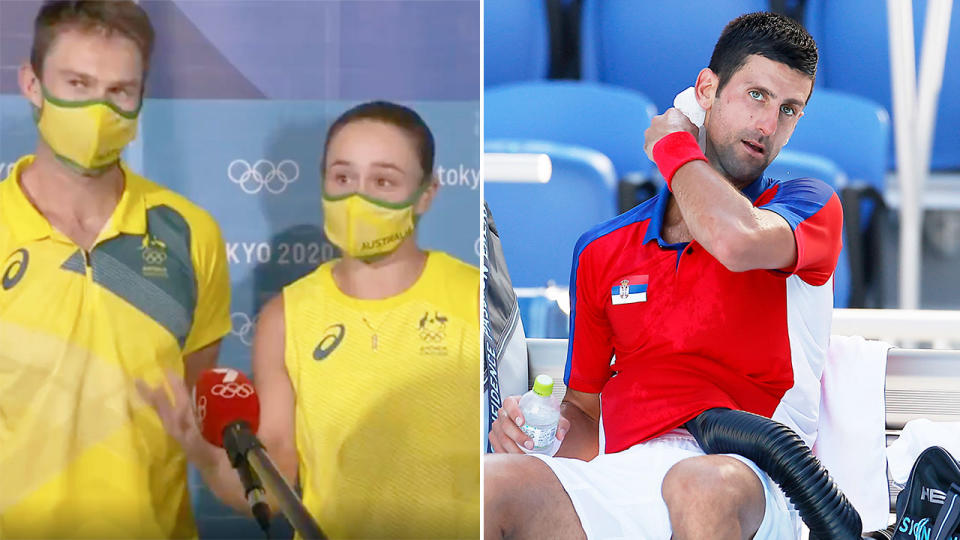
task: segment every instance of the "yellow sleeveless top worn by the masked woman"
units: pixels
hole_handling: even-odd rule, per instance
[[[479,538],[480,271],[431,251],[360,300],[335,263],[283,290],[304,505],[331,538]]]

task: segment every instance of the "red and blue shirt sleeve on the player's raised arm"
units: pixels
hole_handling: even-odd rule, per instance
[[[820,180],[798,178],[771,188],[758,208],[782,216],[797,243],[797,262],[781,272],[796,274],[810,285],[823,285],[837,267],[843,247],[843,208],[837,193]]]

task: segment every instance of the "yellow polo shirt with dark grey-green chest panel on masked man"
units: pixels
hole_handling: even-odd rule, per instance
[[[89,253],[0,182],[0,538],[195,537],[186,460],[134,381],[230,329],[216,222],[125,165]]]

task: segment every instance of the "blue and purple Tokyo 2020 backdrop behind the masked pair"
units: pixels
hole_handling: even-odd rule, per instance
[[[336,255],[322,233],[320,154],[329,124],[362,101],[399,101],[424,117],[442,186],[421,245],[479,266],[479,0],[140,4],[157,43],[140,134],[125,157],[223,229],[233,329],[222,365],[249,372],[260,307]],[[39,6],[0,1],[0,178],[36,144],[16,73]],[[260,537],[192,484],[203,536]]]

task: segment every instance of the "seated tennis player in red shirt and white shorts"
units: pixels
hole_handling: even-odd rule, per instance
[[[819,180],[763,172],[803,116],[817,57],[796,22],[744,15],[697,77],[705,148],[680,111],[653,119],[644,150],[667,187],[577,242],[562,444],[522,455],[518,400],[504,401],[488,539],[799,537],[766,473],[704,455],[683,426],[725,407],[816,436],[842,210]]]

